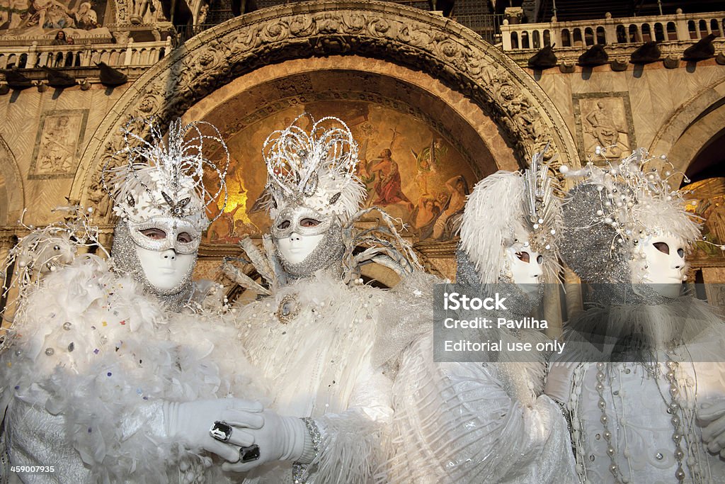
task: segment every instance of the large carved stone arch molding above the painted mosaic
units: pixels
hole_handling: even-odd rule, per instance
[[[423,10],[375,1],[309,2],[264,9],[191,38],[123,94],[81,158],[71,195],[83,200],[91,173],[122,146],[132,116],[162,123],[234,78],[270,63],[355,54],[420,69],[479,105],[508,136],[519,161],[547,157],[578,166],[576,147],[551,99],[530,75],[463,25]]]

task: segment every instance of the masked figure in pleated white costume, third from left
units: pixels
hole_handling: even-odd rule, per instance
[[[506,311],[486,313],[493,321],[530,316],[542,283],[558,280],[560,206],[541,157],[525,173],[487,176],[465,205],[457,283],[506,296]],[[545,340],[535,329],[504,328],[481,329],[480,338]],[[436,363],[432,332],[405,350],[393,387],[396,454],[381,481],[576,482],[566,420],[542,395],[544,356],[484,358]]]

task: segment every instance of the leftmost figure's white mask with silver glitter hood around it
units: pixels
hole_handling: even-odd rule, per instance
[[[199,231],[183,219],[121,220],[115,227],[112,255],[117,270],[144,284],[167,305],[183,305],[191,296],[199,242]]]

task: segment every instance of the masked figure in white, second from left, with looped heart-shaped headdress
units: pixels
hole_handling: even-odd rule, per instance
[[[362,284],[360,266],[381,263],[402,275],[419,266],[384,212],[385,226],[353,226],[371,209],[358,211],[365,186],[355,176],[357,145],[347,126],[323,118],[306,131],[297,123],[270,135],[263,149],[261,205],[273,220],[265,254],[242,242],[267,286],[228,267],[268,296],[244,306],[239,319],[273,403],[262,429],[249,430],[260,458],[225,468],[252,469],[253,483],[365,483],[391,413],[390,382],[373,349],[383,319],[415,313],[406,304],[415,288],[410,278],[393,291]]]

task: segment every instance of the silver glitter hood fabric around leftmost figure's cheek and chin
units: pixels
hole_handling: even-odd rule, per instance
[[[133,241],[133,237],[129,233],[128,224],[123,220],[118,221],[113,232],[111,255],[116,270],[128,274],[134,280],[144,284],[148,292],[159,298],[173,311],[179,311],[191,298],[194,289],[191,282],[191,273],[194,271],[194,266],[196,266],[197,253],[194,252],[193,254],[194,263],[189,264],[188,271],[181,279],[181,282],[170,290],[160,291],[149,282],[146,274],[144,274],[144,268],[141,267],[141,261],[136,253],[136,242]]]

